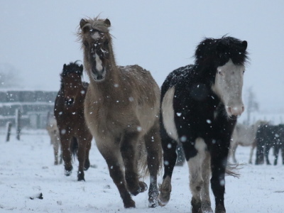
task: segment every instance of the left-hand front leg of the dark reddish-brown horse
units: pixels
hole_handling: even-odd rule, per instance
[[[71,152],[70,152],[70,138],[60,135],[62,146],[62,158],[64,161],[65,175],[70,176],[72,173]]]

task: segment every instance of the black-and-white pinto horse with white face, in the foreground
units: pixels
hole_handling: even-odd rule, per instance
[[[210,175],[215,212],[226,212],[224,177],[229,173],[226,163],[231,134],[236,118],[244,111],[241,92],[246,47],[246,40],[205,38],[197,45],[195,65],[174,70],[163,83],[160,133],[165,173],[160,205],[170,200],[175,148],[182,143],[190,170],[192,213],[212,212]]]

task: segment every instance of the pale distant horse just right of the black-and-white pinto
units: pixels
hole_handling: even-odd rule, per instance
[[[236,148],[240,146],[251,146],[251,153],[249,155],[249,163],[252,163],[253,150],[256,148],[256,131],[258,127],[268,124],[267,121],[256,121],[255,124],[246,126],[244,124],[236,124],[236,127],[233,131],[233,136],[231,138],[231,146],[229,149],[229,155],[233,159],[233,162],[236,163]]]

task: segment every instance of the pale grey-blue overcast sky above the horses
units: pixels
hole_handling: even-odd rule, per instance
[[[100,14],[111,21],[117,64],[141,65],[159,85],[193,62],[202,38],[247,40],[244,101],[252,87],[262,110],[284,109],[282,0],[0,2],[0,64],[12,65],[27,89],[59,89],[63,64],[82,60],[80,19]]]

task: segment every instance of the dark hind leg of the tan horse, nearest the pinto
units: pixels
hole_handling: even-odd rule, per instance
[[[144,136],[147,150],[148,171],[150,173],[150,185],[148,190],[149,207],[158,206],[158,186],[157,175],[160,170],[162,161],[162,147],[160,145],[159,124],[155,124],[153,128]]]

